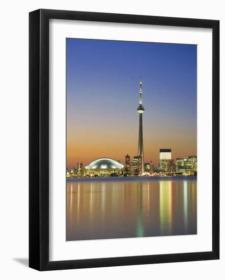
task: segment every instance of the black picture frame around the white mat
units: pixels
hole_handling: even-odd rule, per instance
[[[49,261],[49,19],[212,29],[212,251]],[[40,9],[29,14],[29,24],[29,266],[57,270],[219,259],[219,20]]]

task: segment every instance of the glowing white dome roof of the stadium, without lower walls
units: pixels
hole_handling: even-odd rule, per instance
[[[111,158],[98,158],[90,162],[85,168],[90,171],[97,170],[121,170],[124,165],[119,161]]]

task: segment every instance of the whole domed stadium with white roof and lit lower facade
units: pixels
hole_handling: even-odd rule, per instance
[[[109,176],[112,173],[121,174],[124,165],[111,158],[98,158],[85,166],[87,175],[90,176]]]

